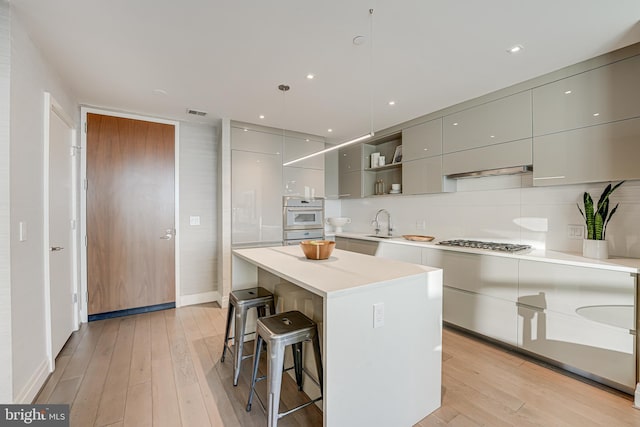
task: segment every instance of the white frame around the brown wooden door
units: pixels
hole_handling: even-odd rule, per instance
[[[123,119],[142,120],[145,122],[162,123],[172,125],[175,129],[174,141],[174,224],[176,234],[174,247],[175,260],[175,284],[176,284],[176,307],[180,307],[180,122],[176,120],[160,119],[157,117],[143,116],[133,113],[125,113],[120,111],[106,110],[98,107],[80,106],[80,124],[82,132],[80,132],[80,177],[82,179],[82,191],[80,192],[80,228],[82,230],[82,250],[80,251],[80,318],[83,323],[88,321],[89,315],[87,303],[89,294],[87,289],[88,271],[87,271],[87,114],[100,114],[103,116],[119,117]]]

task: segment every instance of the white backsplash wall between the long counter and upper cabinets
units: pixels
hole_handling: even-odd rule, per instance
[[[606,183],[531,187],[530,182],[530,174],[477,178],[459,180],[455,193],[342,200],[341,215],[353,221],[344,230],[373,231],[371,220],[385,208],[391,213],[394,234],[514,241],[581,252],[582,240],[569,239],[567,226],[584,224],[576,203],[582,206],[585,191],[597,200]],[[640,258],[640,181],[624,183],[611,202],[620,207],[607,228],[610,255]]]

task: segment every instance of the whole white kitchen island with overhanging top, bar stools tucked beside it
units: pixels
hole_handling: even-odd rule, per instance
[[[233,251],[233,289],[256,284],[279,308],[313,311],[325,426],[411,426],[440,406],[442,270],[338,249],[320,261],[298,246]]]

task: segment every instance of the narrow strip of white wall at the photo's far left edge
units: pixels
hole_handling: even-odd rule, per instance
[[[13,400],[9,243],[9,88],[11,10],[0,1],[0,402]],[[7,345],[8,344],[8,345]]]

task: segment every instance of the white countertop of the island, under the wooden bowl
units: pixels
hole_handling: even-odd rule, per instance
[[[322,297],[438,270],[340,249],[326,260],[305,258],[299,246],[236,249],[233,254]]]

